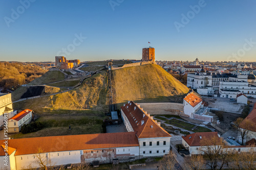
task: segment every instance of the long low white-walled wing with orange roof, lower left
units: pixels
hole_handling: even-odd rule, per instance
[[[139,142],[135,132],[101,133],[86,135],[48,136],[0,140],[0,159],[5,157],[13,170],[39,167],[35,163],[41,154],[47,166],[69,163],[112,163],[139,158]]]

